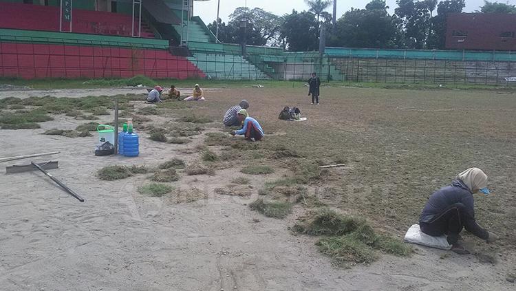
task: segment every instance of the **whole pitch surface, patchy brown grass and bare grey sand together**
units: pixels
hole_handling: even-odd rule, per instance
[[[107,95],[66,91],[1,91],[0,98]],[[514,290],[516,94],[332,87],[321,89],[321,105],[314,106],[301,87],[205,91],[204,103],[170,102],[156,112],[146,108],[154,105],[130,101],[122,116],[136,119],[138,158],[94,156],[94,132],[85,138],[40,134],[91,121],[65,114],[50,114],[54,120],[39,122],[41,129],[0,130],[0,158],[61,151],[34,160],[58,160],[52,174],[86,200],[74,200],[39,172],[0,175],[1,289]],[[115,91],[127,93],[140,91]],[[222,134],[219,120],[242,98],[266,131],[261,142]],[[286,105],[300,107],[308,120],[278,120]],[[14,112],[11,107],[1,112]],[[185,116],[214,122],[183,122]],[[113,120],[112,114],[96,118]],[[158,131],[187,143],[149,140]],[[217,158],[206,161],[207,151]],[[155,171],[171,158],[184,160],[186,169],[178,169],[179,180],[167,183],[173,191],[162,197],[138,191],[153,173],[115,181],[97,176],[114,164]],[[336,163],[345,166],[318,168]],[[214,173],[189,175],[195,165]],[[255,165],[274,173],[240,172]],[[319,252],[319,237],[290,230],[310,211],[329,207],[365,217],[378,232],[401,240],[429,195],[471,166],[486,172],[493,193],[475,195],[477,221],[500,237],[487,245],[465,234],[473,255],[414,246],[410,257],[383,254],[345,269]],[[292,188],[305,191],[302,199],[289,196]],[[290,203],[292,213],[261,215],[248,207],[257,198]]]

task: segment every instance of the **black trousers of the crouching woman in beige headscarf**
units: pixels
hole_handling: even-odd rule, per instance
[[[433,237],[448,235],[449,244],[457,244],[463,228],[481,239],[488,237],[487,231],[475,222],[475,218],[469,215],[462,203],[452,204],[430,222],[420,222],[419,226],[423,233]]]

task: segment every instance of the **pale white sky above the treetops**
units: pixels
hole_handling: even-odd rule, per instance
[[[516,1],[510,0],[509,2]],[[337,19],[344,14],[350,8],[365,8],[365,5],[369,3],[368,0],[337,0]],[[506,2],[504,0],[500,2]],[[308,10],[308,6],[303,0],[220,0],[220,18],[224,22],[228,22],[229,14],[231,14],[235,8],[246,6],[250,9],[258,7],[268,12],[272,12],[277,15],[283,15],[292,12],[292,9],[297,11]],[[484,5],[484,0],[466,0],[466,8],[464,12],[473,12],[480,10],[480,6]],[[394,13],[394,9],[398,7],[396,0],[387,0],[387,6],[389,6],[389,13]],[[327,10],[332,13],[333,8],[330,6]],[[208,24],[217,18],[217,0],[194,0],[193,3],[193,14],[199,15],[204,23]]]

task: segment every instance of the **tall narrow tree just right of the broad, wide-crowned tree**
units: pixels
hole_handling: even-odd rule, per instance
[[[413,49],[424,48],[430,27],[429,3],[414,0],[398,0],[397,3],[394,12],[405,28],[405,44]]]

